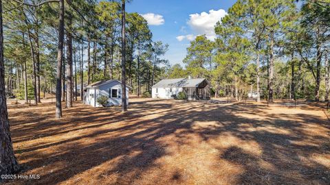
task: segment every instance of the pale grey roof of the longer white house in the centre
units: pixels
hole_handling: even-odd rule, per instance
[[[179,88],[179,87],[198,87],[201,82],[206,81],[210,84],[205,78],[176,78],[176,79],[162,79],[157,84],[153,85],[153,88]]]

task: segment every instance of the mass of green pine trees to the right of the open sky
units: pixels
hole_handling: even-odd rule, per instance
[[[329,99],[330,1],[239,0],[215,29],[187,48],[186,69],[169,77],[206,77],[215,95],[242,99],[252,89],[270,102]]]

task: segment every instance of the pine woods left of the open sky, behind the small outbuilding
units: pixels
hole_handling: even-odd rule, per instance
[[[122,40],[124,1],[63,1],[63,33],[58,27],[59,2],[5,1],[3,4],[8,96],[25,99],[27,103],[36,99],[37,104],[47,93],[56,92],[56,79],[60,78],[56,78],[56,71],[61,71],[61,97],[69,108],[78,95],[83,99],[80,86],[122,79],[123,51],[125,81],[133,87],[133,93],[140,96],[150,91],[153,83],[162,77],[165,70],[159,64],[168,64],[162,59],[168,45],[153,42],[148,23],[135,12],[125,12]],[[63,44],[58,43],[62,34]],[[56,58],[60,45],[63,53]],[[61,67],[56,66],[57,60],[62,61]]]

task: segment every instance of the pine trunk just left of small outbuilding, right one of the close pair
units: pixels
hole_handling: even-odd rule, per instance
[[[71,0],[67,0],[67,3],[71,3]],[[68,14],[68,29],[67,29],[67,108],[72,108],[72,15]]]

